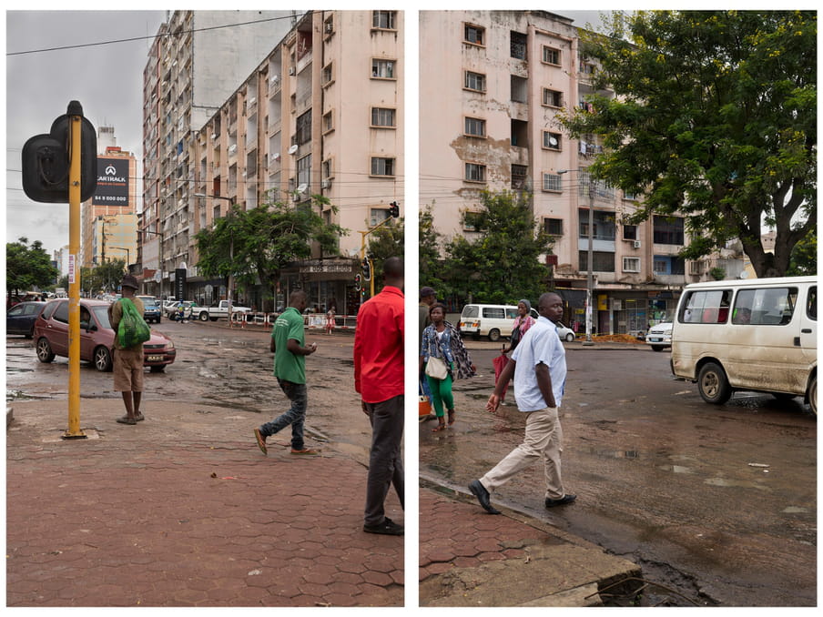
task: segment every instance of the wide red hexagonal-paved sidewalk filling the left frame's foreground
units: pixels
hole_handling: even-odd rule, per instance
[[[401,606],[403,538],[362,531],[366,469],[333,444],[259,451],[253,414],[147,400],[15,401],[8,606]],[[387,514],[403,522],[390,493]]]

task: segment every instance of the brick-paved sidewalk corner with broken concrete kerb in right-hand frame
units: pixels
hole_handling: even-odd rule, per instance
[[[602,606],[598,591],[638,587],[631,561],[499,503],[487,514],[468,491],[429,485],[420,504],[422,606]]]

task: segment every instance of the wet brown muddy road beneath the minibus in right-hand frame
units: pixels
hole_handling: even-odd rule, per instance
[[[496,352],[469,346],[482,375],[457,383],[459,421],[420,427],[422,477],[463,491],[524,426],[512,406],[483,409]],[[704,605],[816,605],[817,420],[802,400],[740,393],[714,407],[671,378],[668,353],[567,349],[564,484],[578,500],[546,511],[540,465],[495,499],[642,565],[665,586],[645,602],[690,605],[671,589]]]

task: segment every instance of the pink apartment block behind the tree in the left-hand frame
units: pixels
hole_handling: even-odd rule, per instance
[[[260,281],[240,296],[248,306],[279,309],[302,288],[310,309],[356,312],[365,232],[403,193],[401,19],[397,11],[304,15],[197,132],[189,238],[232,204],[317,207],[313,195],[330,200],[316,210],[327,222],[348,229],[340,255],[316,251],[279,281]],[[188,254],[192,297],[207,304],[224,297],[225,279],[199,275],[193,239]]]

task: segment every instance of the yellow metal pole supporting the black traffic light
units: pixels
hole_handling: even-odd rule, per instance
[[[80,131],[83,116],[68,116],[68,430],[67,440],[86,439],[80,430]]]

